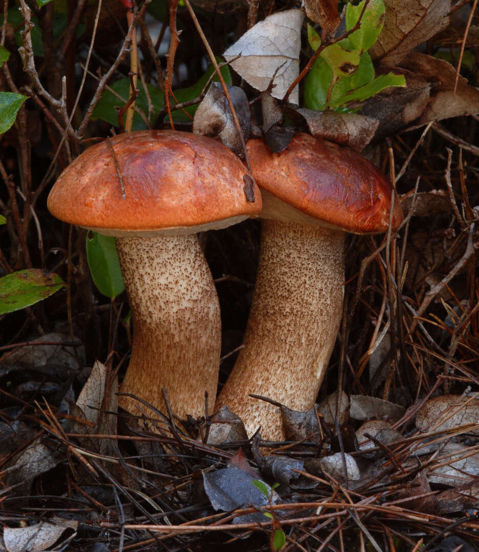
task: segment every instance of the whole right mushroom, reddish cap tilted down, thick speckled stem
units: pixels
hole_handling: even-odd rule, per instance
[[[313,406],[342,317],[345,232],[386,231],[395,192],[358,153],[308,134],[280,153],[260,140],[247,150],[263,198],[259,265],[244,348],[215,408],[283,440],[279,409],[248,395]],[[396,198],[393,229],[401,220]]]

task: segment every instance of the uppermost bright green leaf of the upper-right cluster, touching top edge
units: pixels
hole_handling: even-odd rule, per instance
[[[358,6],[348,4],[345,17],[347,31],[351,30],[358,22],[363,7],[364,0]],[[359,29],[348,36],[349,42],[354,49],[360,50],[361,54],[370,49],[381,33],[385,13],[384,0],[371,0],[369,2],[361,18]]]

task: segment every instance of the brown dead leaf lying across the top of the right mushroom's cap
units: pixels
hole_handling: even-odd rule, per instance
[[[331,109],[320,112],[306,108],[290,108],[299,114],[313,136],[363,151],[375,135],[379,121],[357,113],[337,113]]]

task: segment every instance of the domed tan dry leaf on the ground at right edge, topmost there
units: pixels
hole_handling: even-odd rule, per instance
[[[467,402],[466,405],[464,403]],[[461,406],[464,405],[464,406]],[[434,428],[434,431],[477,423],[475,429],[467,433],[479,434],[479,399],[461,395],[441,395],[425,402],[416,414],[416,427],[419,429]]]

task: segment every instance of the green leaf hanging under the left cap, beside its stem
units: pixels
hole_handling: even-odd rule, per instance
[[[98,291],[111,299],[125,289],[115,238],[97,232],[87,233],[87,259]]]

